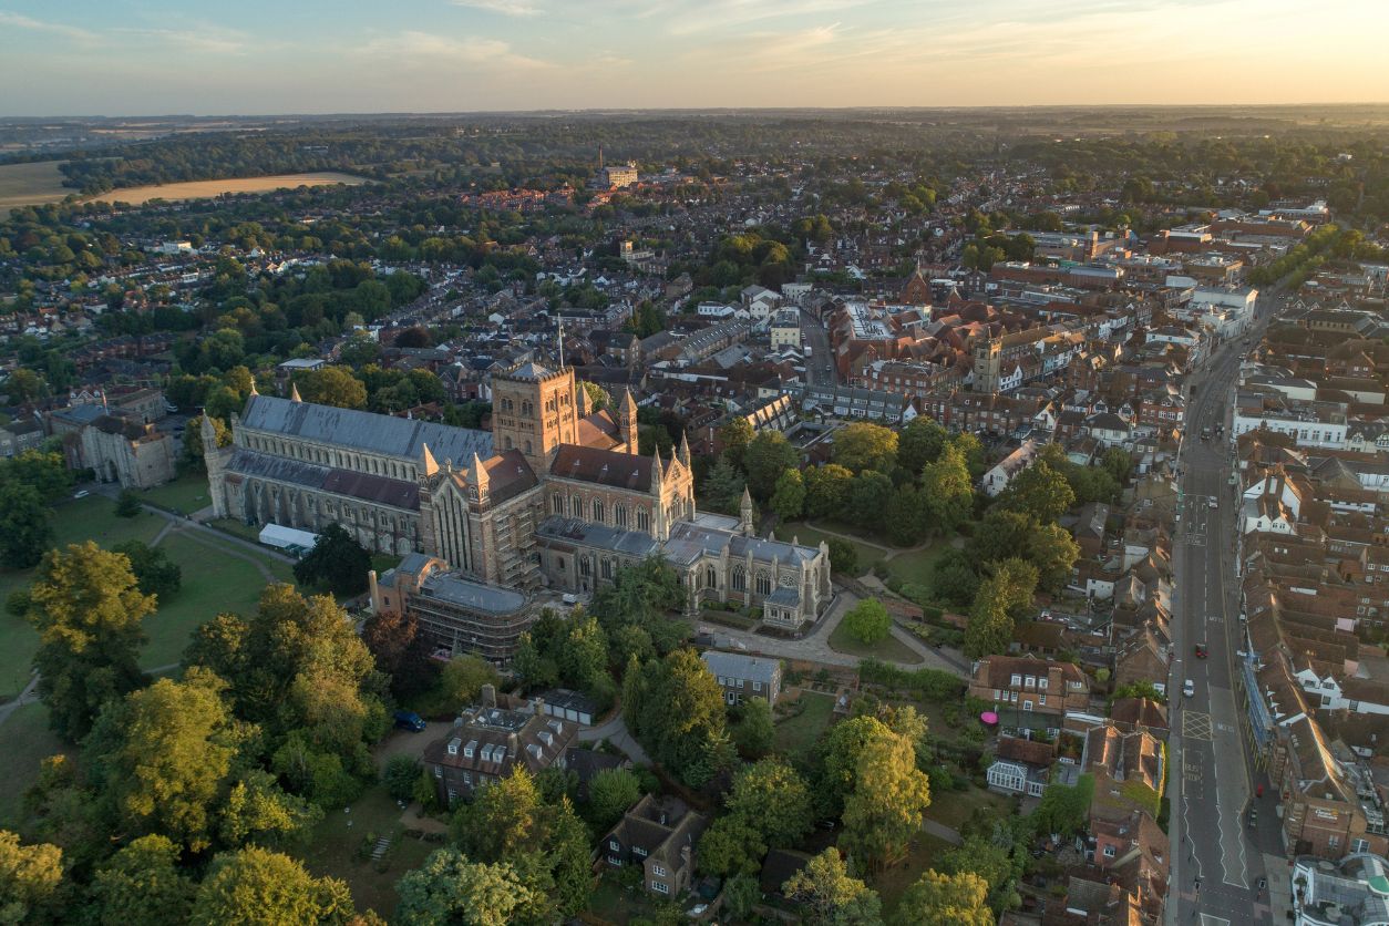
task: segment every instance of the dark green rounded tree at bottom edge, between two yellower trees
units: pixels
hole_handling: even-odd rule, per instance
[[[92,895],[101,926],[183,926],[194,886],[179,868],[179,845],[167,836],[142,836],[96,873]]]

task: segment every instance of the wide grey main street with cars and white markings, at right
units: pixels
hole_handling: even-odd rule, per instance
[[[1258,321],[1250,332],[1256,344],[1279,297],[1260,300]],[[1179,461],[1179,521],[1175,526],[1172,562],[1175,612],[1168,754],[1171,769],[1171,882],[1168,922],[1203,926],[1274,922],[1264,852],[1281,854],[1276,845],[1274,801],[1256,798],[1256,776],[1240,715],[1243,696],[1236,684],[1236,654],[1242,637],[1239,584],[1233,540],[1238,510],[1231,444],[1238,342],[1218,348],[1204,368],[1190,378],[1186,440]],[[1225,436],[1201,440],[1203,428],[1225,425]],[[1195,655],[1204,644],[1207,658]],[[1193,694],[1182,687],[1193,683]],[[1251,801],[1264,807],[1264,819],[1249,826]]]

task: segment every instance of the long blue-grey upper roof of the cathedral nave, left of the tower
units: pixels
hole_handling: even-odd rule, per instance
[[[406,460],[419,460],[424,444],[429,444],[435,460],[453,460],[460,465],[472,460],[472,454],[482,458],[492,455],[492,435],[485,430],[296,403],[275,396],[251,396],[242,412],[242,425]]]

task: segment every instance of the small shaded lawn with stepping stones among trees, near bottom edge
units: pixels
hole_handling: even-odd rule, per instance
[[[400,807],[378,784],[346,811],[329,811],[310,834],[300,858],[314,875],[331,875],[347,882],[358,908],[392,916],[399,901],[396,882],[406,872],[419,868],[425,857],[442,845],[407,837],[400,815]],[[358,850],[364,841],[379,836],[392,840],[385,858],[375,862],[369,854],[361,858]]]

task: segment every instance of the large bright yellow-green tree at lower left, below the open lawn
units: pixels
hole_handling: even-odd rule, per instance
[[[194,852],[213,843],[215,804],[236,755],[226,683],[206,669],[160,679],[111,705],[118,748],[103,757],[125,826],[163,833]],[[99,740],[100,737],[93,737]]]

